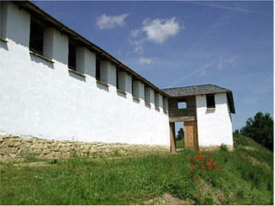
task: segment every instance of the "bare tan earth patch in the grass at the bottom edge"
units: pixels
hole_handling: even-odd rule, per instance
[[[187,199],[181,200],[179,198],[175,198],[169,193],[165,193],[161,197],[153,198],[151,200],[145,201],[145,205],[195,205],[195,202]]]

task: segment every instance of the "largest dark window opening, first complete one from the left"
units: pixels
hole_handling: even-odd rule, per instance
[[[30,50],[43,55],[44,28],[38,23],[30,22]]]

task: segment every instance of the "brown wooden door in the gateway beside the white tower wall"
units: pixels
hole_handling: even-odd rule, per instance
[[[185,148],[198,148],[197,121],[184,122]]]

